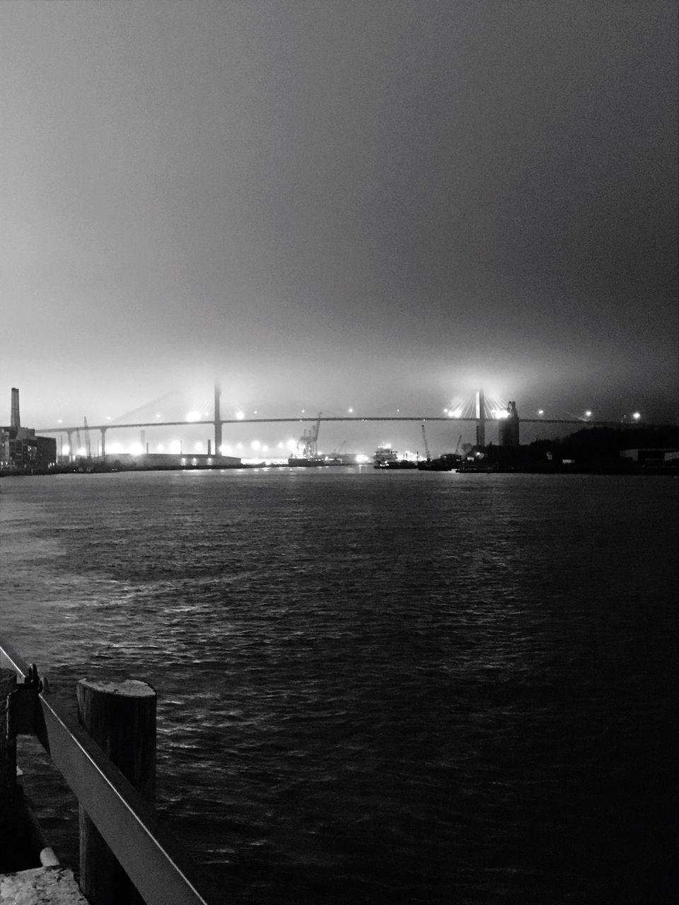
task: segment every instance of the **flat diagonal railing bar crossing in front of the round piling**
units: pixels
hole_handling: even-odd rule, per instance
[[[39,739],[147,905],[223,902],[224,894],[159,824],[152,805],[49,693],[47,683],[37,685],[34,667],[4,641],[0,642],[0,662],[23,677],[24,688],[19,686],[22,698],[27,689],[34,691],[33,703],[26,701],[16,714],[15,729]],[[28,724],[32,724],[32,733]]]

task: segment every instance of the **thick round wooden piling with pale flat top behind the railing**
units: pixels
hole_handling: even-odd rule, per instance
[[[156,798],[156,692],[146,682],[81,679],[78,719],[149,802]],[[92,905],[143,902],[89,816],[80,809],[81,890]]]

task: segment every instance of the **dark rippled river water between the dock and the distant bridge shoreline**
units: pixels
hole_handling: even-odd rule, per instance
[[[679,481],[126,472],[0,503],[3,636],[64,700],[157,689],[158,809],[225,901],[674,902]]]

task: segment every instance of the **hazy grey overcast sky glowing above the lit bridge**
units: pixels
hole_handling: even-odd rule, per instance
[[[676,19],[4,0],[0,422],[215,376],[225,414],[675,421]]]

